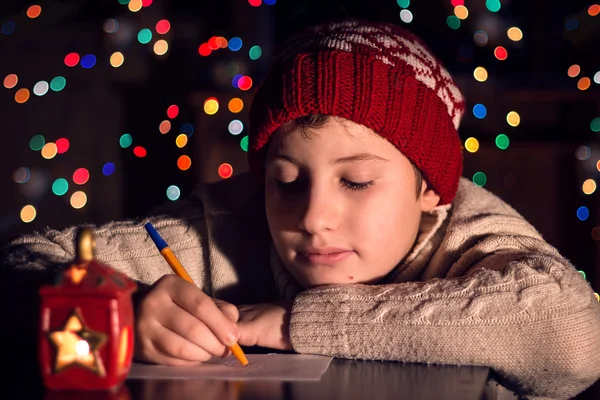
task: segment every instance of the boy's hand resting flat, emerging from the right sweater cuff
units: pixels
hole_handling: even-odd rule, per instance
[[[239,306],[238,326],[242,346],[293,350],[290,342],[292,301]]]

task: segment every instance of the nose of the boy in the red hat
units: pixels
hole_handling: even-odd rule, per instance
[[[334,231],[339,226],[340,205],[324,190],[309,189],[306,193],[298,227],[310,234]]]

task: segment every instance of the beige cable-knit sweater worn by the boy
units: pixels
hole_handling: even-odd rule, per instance
[[[262,196],[247,174],[206,185],[161,216],[97,227],[97,257],[138,282],[172,273],[150,220],[208,294],[295,302],[299,353],[483,365],[527,398],[567,399],[600,377],[600,304],[577,270],[514,209],[462,179],[452,207],[423,215],[413,251],[378,285],[307,291],[272,249]],[[76,228],[24,236],[9,267],[74,257]]]

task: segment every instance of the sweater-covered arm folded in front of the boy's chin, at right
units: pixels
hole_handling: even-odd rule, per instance
[[[458,278],[301,293],[290,323],[294,349],[488,366],[532,397],[566,399],[596,381],[600,304],[581,274],[530,237],[491,236],[470,251],[487,256]],[[499,266],[505,271],[490,268]]]

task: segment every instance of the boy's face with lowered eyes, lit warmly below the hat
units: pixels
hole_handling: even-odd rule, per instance
[[[368,128],[330,118],[305,137],[271,138],[265,206],[275,248],[305,288],[375,283],[411,250],[421,213],[439,196],[416,196],[412,165]]]

